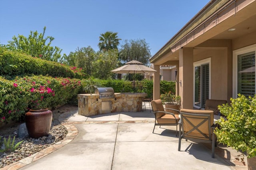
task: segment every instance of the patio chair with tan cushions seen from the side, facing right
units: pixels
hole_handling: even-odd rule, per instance
[[[178,134],[178,121],[180,120],[179,113],[180,111],[176,109],[164,109],[162,100],[153,100],[151,101],[152,110],[155,115],[155,125],[153,133],[156,126],[176,126],[176,136]]]

